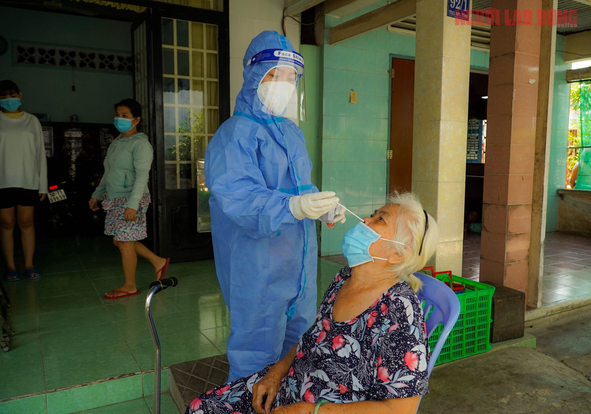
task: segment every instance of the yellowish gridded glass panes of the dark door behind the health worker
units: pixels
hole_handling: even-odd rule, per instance
[[[197,189],[198,231],[209,231],[203,159],[219,127],[217,26],[162,18],[165,188]]]

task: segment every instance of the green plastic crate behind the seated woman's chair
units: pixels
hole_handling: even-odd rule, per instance
[[[449,282],[448,275],[436,277],[437,280]],[[489,336],[492,294],[495,293],[495,288],[456,275],[452,275],[452,280],[464,285],[466,291],[457,295],[460,301],[460,316],[437,357],[436,365],[491,350]],[[426,319],[430,314],[431,312]],[[440,324],[429,337],[430,349],[434,349],[442,330],[443,325]]]

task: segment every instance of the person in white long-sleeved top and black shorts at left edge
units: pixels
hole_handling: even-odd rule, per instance
[[[33,212],[47,195],[47,159],[41,124],[20,109],[21,98],[17,84],[0,81],[0,242],[6,281],[20,280],[14,265],[15,221],[21,229],[25,275],[31,280],[41,277],[33,266]]]

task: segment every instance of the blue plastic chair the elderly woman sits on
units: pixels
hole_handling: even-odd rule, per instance
[[[431,357],[427,363],[427,377],[430,377],[437,357],[439,357],[439,353],[443,348],[443,344],[456,324],[457,317],[460,316],[460,301],[449,286],[436,278],[420,272],[416,272],[414,275],[423,282],[423,288],[417,293],[417,297],[421,303],[425,303],[423,308],[425,316],[427,316],[429,309],[433,307],[431,315],[425,321],[427,325],[427,336],[431,336],[437,326],[443,324],[443,331],[441,331],[434,349],[431,350]]]

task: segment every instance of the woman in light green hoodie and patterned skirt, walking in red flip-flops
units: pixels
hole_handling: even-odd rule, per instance
[[[138,256],[147,259],[156,271],[156,280],[164,278],[170,258],[155,255],[141,242],[147,237],[146,211],[150,204],[148,177],[153,150],[141,127],[141,105],[131,99],[115,104],[115,127],[121,132],[111,143],[105,158],[105,173],[89,201],[90,209],[106,212],[105,234],[113,236],[113,244],[121,251],[125,283],[105,293],[106,299],[138,295],[135,268]]]

